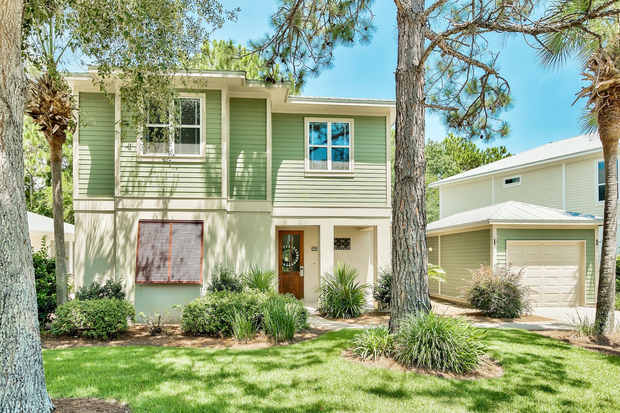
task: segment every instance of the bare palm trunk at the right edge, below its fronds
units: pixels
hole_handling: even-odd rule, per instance
[[[620,104],[601,108],[598,133],[603,142],[605,160],[605,206],[603,212],[603,246],[596,295],[596,331],[614,331],[614,299],[616,297],[616,251],[618,241],[618,139],[620,139]]]

